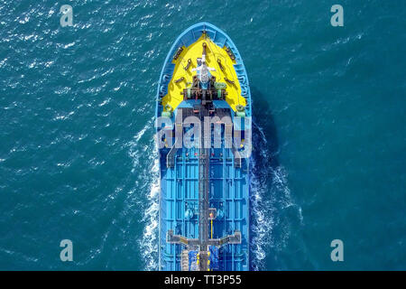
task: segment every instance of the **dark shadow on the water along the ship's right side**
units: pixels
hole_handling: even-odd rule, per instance
[[[251,169],[250,269],[265,269],[267,251],[272,246],[274,206],[272,186],[278,171],[279,143],[267,96],[251,88],[253,99],[253,154]]]

